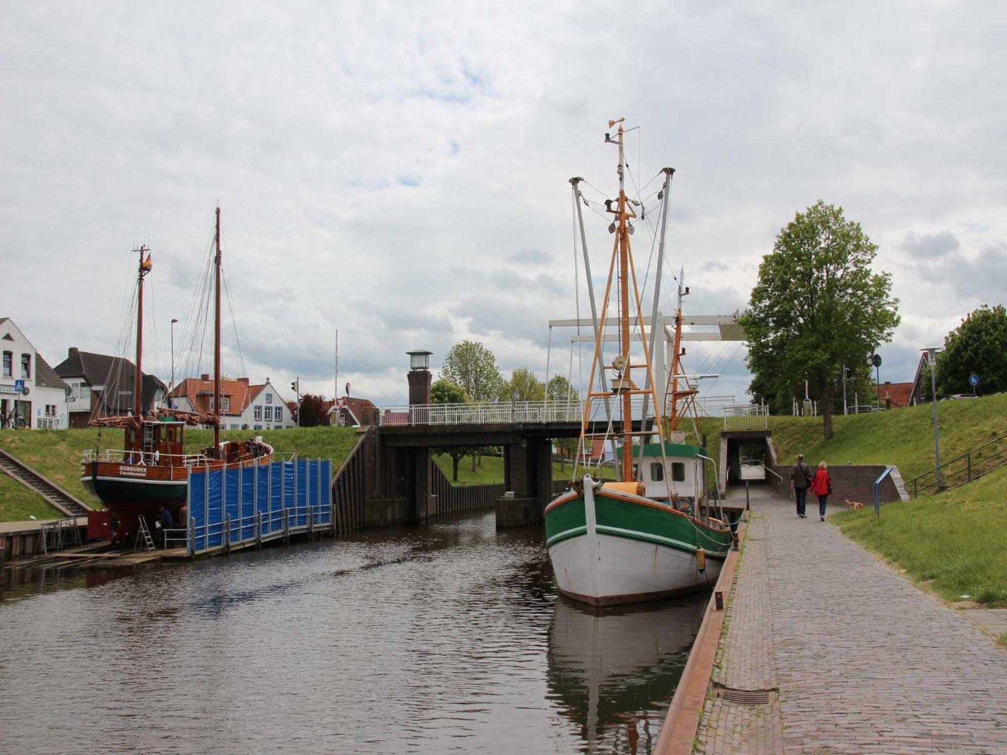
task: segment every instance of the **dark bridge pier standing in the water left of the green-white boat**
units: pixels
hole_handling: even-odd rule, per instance
[[[496,499],[497,527],[542,523],[552,498],[552,461],[549,438],[524,438],[503,446],[503,484],[509,494]]]

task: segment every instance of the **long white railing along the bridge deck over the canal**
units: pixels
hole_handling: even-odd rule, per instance
[[[619,421],[621,401],[610,401],[612,419]],[[634,396],[630,416],[639,420],[643,411],[642,397]],[[404,425],[492,425],[547,422],[580,422],[584,405],[579,401],[519,401],[482,402],[474,404],[417,404],[404,407],[382,407],[379,413],[383,426]],[[592,421],[606,420],[604,403],[591,406]],[[648,406],[648,417],[654,417],[654,402]]]

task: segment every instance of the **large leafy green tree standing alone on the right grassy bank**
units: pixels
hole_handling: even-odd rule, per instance
[[[871,271],[876,256],[860,223],[820,199],[780,230],[740,318],[752,395],[772,394],[786,405],[795,384],[808,380],[822,402],[826,439],[843,366],[865,364],[901,319],[891,275]]]

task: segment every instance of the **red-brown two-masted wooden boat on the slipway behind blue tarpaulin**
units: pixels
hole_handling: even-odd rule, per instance
[[[133,413],[127,416],[93,418],[91,425],[123,428],[123,448],[85,451],[81,462],[81,482],[110,509],[112,540],[127,541],[137,532],[139,517],[153,522],[163,505],[172,519],[184,525],[188,473],[191,469],[269,464],[273,448],[255,438],[248,441],[221,441],[221,208],[217,208],[213,239],[213,400],[205,412],[160,409],[143,413],[141,401],[143,358],[143,282],[152,268],[150,251],[140,253],[137,274],[136,369],[133,385]],[[146,255],[146,257],[145,257]],[[186,426],[212,425],[213,445],[199,453],[185,453]]]

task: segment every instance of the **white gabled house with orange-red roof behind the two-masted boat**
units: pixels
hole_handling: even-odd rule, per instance
[[[213,409],[213,381],[208,374],[186,378],[171,392],[174,409],[210,412]],[[248,378],[221,380],[221,409],[228,430],[284,430],[294,427],[286,403],[270,383],[251,385]]]

